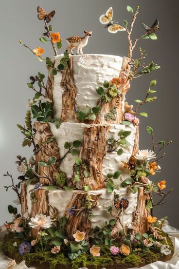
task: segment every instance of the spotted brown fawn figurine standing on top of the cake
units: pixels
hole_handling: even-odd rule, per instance
[[[76,48],[76,54],[83,54],[82,48],[85,47],[88,43],[88,39],[91,37],[92,32],[84,31],[85,36],[83,38],[80,37],[71,37],[67,38],[67,43],[69,46],[66,48],[66,52],[70,50],[71,54],[73,55],[73,49]]]

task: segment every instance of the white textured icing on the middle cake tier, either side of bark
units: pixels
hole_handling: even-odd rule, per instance
[[[67,152],[67,150],[64,148],[64,143],[66,141],[73,142],[74,140],[83,141],[84,127],[90,126],[85,123],[64,122],[61,124],[60,128],[56,129],[54,123],[49,123],[49,125],[51,132],[55,137],[55,141],[57,142],[60,157],[63,157]],[[113,137],[117,140],[119,138],[117,134],[121,129],[125,131],[131,131],[131,134],[126,138],[130,143],[130,146],[123,147],[123,154],[121,156],[118,156],[116,152],[107,152],[106,156],[104,157],[102,166],[102,174],[104,178],[107,178],[107,173],[109,172],[115,172],[118,170],[122,171],[120,178],[114,180],[115,184],[119,184],[121,181],[125,180],[126,177],[128,177],[128,172],[126,169],[124,170],[121,161],[127,161],[131,156],[136,133],[136,126],[133,124],[129,126],[123,124],[110,124],[108,138]],[[76,157],[77,156],[72,156],[72,154],[69,153],[61,162],[60,171],[66,173],[68,179],[72,177],[72,167],[75,163]]]

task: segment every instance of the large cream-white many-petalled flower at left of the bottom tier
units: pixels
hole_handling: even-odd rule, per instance
[[[48,229],[52,226],[52,221],[50,216],[46,216],[43,214],[36,215],[31,218],[31,222],[29,222],[29,226],[34,229]]]

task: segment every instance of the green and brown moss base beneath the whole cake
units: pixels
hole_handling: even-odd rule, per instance
[[[16,262],[25,260],[27,266],[33,266],[37,269],[78,269],[80,267],[87,267],[88,269],[101,269],[102,267],[106,269],[128,269],[131,267],[140,268],[156,261],[165,262],[170,260],[174,253],[174,247],[168,235],[163,233],[163,236],[167,237],[168,245],[172,250],[172,253],[167,256],[155,251],[148,251],[140,255],[130,254],[128,256],[113,256],[110,254],[108,246],[100,246],[100,257],[81,254],[73,261],[71,261],[63,253],[54,255],[51,251],[32,252],[21,256],[18,252],[18,247],[13,247],[13,243],[17,242],[19,246],[22,241],[26,240],[24,240],[24,238],[18,239],[9,237],[5,238],[1,249],[4,250],[5,254],[9,257],[15,259]],[[164,241],[161,241],[161,243],[165,244]]]

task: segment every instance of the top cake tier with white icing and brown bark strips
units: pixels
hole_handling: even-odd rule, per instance
[[[53,58],[54,67],[60,64],[63,55]],[[51,88],[53,98],[53,112],[55,119],[63,122],[79,122],[77,111],[87,113],[89,108],[97,105],[101,106],[102,112],[96,117],[95,121],[86,123],[113,124],[123,120],[125,94],[121,97],[112,98],[110,104],[105,103],[105,108],[100,104],[100,96],[96,89],[103,86],[105,80],[111,81],[114,77],[119,77],[123,70],[128,70],[128,59],[112,55],[70,55],[68,70],[63,73],[58,72],[54,77],[48,77],[47,86]],[[105,119],[105,114],[110,113],[111,109],[116,109],[116,120]],[[118,110],[120,110],[120,116]]]

